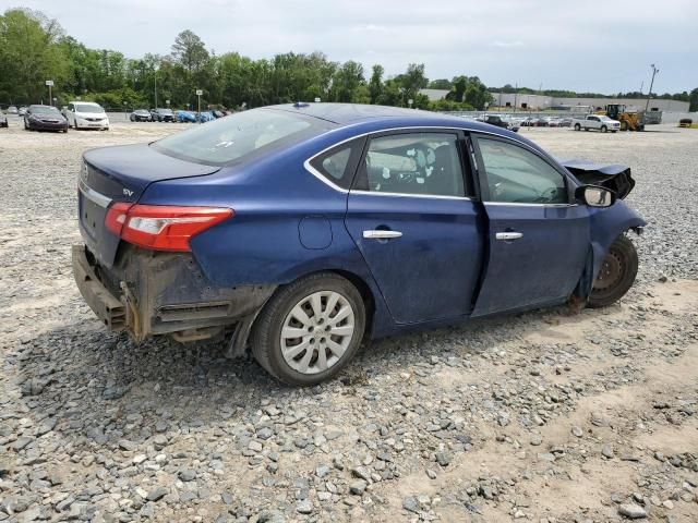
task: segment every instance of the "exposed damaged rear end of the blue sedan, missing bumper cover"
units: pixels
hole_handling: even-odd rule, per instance
[[[77,288],[97,317],[110,330],[127,330],[136,341],[157,335],[203,340],[237,325],[233,342],[244,345],[252,321],[276,289],[220,288],[201,272],[191,254],[130,245],[123,246],[110,269],[99,265],[85,245],[73,245],[72,264]]]

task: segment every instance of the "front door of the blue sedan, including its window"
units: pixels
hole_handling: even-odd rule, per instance
[[[472,316],[564,302],[589,253],[589,214],[566,173],[528,145],[472,136],[489,227]]]

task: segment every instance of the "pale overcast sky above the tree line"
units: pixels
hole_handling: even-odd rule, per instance
[[[615,94],[698,87],[698,0],[0,0],[57,19],[88,47],[167,54],[183,29],[208,50],[258,59],[322,51],[424,63],[431,78]]]

